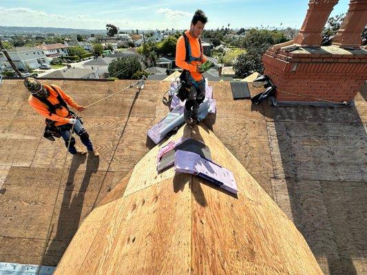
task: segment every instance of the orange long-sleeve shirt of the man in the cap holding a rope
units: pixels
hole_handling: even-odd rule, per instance
[[[47,100],[50,101],[52,104],[60,103],[59,100],[57,100],[56,91],[54,91],[54,89],[57,89],[61,98],[63,98],[63,100],[65,100],[67,104],[75,109],[78,109],[80,107],[80,105],[78,105],[69,95],[65,94],[65,91],[63,91],[59,86],[52,85],[54,89],[52,89],[49,85],[43,86],[48,89],[48,91],[50,91],[50,96],[48,96]],[[56,109],[56,114],[52,113],[50,115],[50,111],[48,110],[47,105],[41,102],[38,98],[30,95],[30,98],[28,98],[28,102],[30,103],[30,106],[32,106],[32,108],[40,113],[43,117],[54,120],[55,126],[60,126],[70,122],[69,118],[71,118],[71,115],[67,116],[67,109],[65,109],[64,107],[61,107],[61,109]]]

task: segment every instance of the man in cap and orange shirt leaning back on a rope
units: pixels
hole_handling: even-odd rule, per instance
[[[70,130],[72,129],[72,124],[74,124],[74,133],[80,137],[81,142],[87,147],[88,153],[95,157],[99,155],[93,148],[93,144],[81,123],[81,119],[70,111],[67,104],[78,111],[85,110],[85,107],[74,102],[65,91],[56,85],[43,85],[41,81],[30,77],[25,78],[24,85],[31,93],[28,99],[30,106],[46,118],[44,137],[54,140],[52,135],[51,137],[46,136],[48,131],[56,136],[59,134],[59,136],[63,137],[65,146],[69,147],[69,153],[72,155],[85,155],[87,152],[76,150],[74,137],[70,140]]]

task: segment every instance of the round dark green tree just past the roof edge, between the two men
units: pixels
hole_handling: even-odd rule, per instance
[[[134,79],[134,74],[141,69],[138,58],[132,57],[118,58],[108,65],[109,77],[116,77],[118,79]]]

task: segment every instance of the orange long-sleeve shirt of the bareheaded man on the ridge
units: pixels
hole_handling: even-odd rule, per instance
[[[191,56],[200,57],[201,61],[191,61],[191,63],[187,63],[185,61],[186,57],[186,48],[185,48],[185,38],[180,36],[176,44],[176,65],[182,69],[187,69],[190,72],[192,78],[194,80],[200,81],[202,80],[202,75],[198,72],[198,65],[205,63],[207,58],[204,54],[200,56],[200,43],[199,39],[191,36],[189,30],[185,31],[185,34],[189,38],[189,43],[191,47]],[[202,52],[202,50],[201,50]]]

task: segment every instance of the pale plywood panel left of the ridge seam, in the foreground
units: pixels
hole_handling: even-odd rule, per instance
[[[67,270],[77,270],[74,274],[188,274],[189,184],[187,182],[181,192],[167,192],[171,188],[171,181],[162,181],[105,204],[103,219],[90,224],[99,230],[93,232],[94,241],[89,243],[88,252],[76,259],[73,241],[54,274],[65,274]],[[90,226],[88,223],[89,217],[74,236],[76,241],[80,238],[79,232],[83,234],[82,229]],[[85,250],[83,244],[82,249]]]

